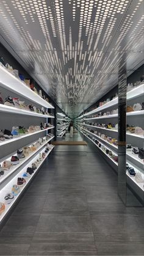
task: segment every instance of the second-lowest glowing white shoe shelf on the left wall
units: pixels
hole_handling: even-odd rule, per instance
[[[0,185],[8,178],[10,175],[12,175],[17,169],[19,169],[21,166],[23,166],[24,163],[26,163],[29,159],[32,158],[38,151],[40,151],[41,148],[43,148],[49,141],[51,141],[54,138],[54,136],[47,138],[34,152],[30,152],[28,156],[20,160],[20,164],[16,164],[15,166],[10,167],[9,170],[4,170],[4,175],[0,176]],[[43,139],[46,139],[46,137],[43,137]],[[37,141],[33,142],[32,144],[27,145],[26,147],[31,147],[31,145],[35,145]],[[2,163],[4,161],[10,161],[12,156],[17,156],[16,152],[13,152],[12,154],[8,156],[5,156],[5,158],[2,159],[0,162],[1,167]]]

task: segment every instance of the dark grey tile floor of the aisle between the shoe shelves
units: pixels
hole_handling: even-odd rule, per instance
[[[144,255],[143,219],[98,152],[55,150],[1,230],[0,255]]]

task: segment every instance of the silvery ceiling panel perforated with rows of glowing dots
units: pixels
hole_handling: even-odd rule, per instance
[[[1,42],[67,114],[143,60],[143,0],[1,0]]]

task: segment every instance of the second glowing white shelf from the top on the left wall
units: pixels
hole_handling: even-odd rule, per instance
[[[0,66],[1,67],[1,66]],[[43,115],[34,111],[28,111],[25,109],[19,109],[19,108],[14,108],[11,106],[5,106],[3,104],[0,104],[0,112],[7,112],[7,113],[12,113],[12,114],[20,114],[20,115],[31,115],[33,117],[43,117],[43,118],[54,118],[53,115]]]

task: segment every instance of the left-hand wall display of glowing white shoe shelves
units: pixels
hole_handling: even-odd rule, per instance
[[[10,97],[18,97],[21,101],[25,101],[26,104],[32,104],[36,108],[41,109],[41,107],[45,108],[45,112],[47,113],[49,109],[54,109],[51,103],[44,100],[37,93],[33,92],[23,81],[13,76],[9,71],[7,71],[4,67],[0,66],[0,89],[3,97],[10,95]],[[31,133],[18,134],[17,137],[13,137],[12,139],[5,139],[5,141],[0,141],[0,164],[4,161],[10,161],[12,156],[16,156],[16,152],[19,148],[23,148],[25,146],[30,146],[31,144],[35,144],[39,138],[45,138],[48,133],[53,133],[54,129],[54,115],[52,114],[41,114],[34,111],[28,111],[26,109],[15,108],[13,106],[6,106],[4,104],[0,104],[0,113],[1,113],[1,125],[0,129],[7,129],[12,131],[12,126],[24,126],[29,128],[29,126],[40,126],[40,123],[51,123],[51,126],[45,128],[44,130],[35,130]],[[49,111],[51,113],[51,111]],[[34,152],[26,155],[25,158],[20,160],[19,164],[13,165],[9,170],[4,170],[4,175],[0,176],[0,202],[5,203],[4,197],[7,193],[12,192],[12,186],[17,185],[18,177],[22,178],[24,172],[27,171],[27,167],[31,167],[32,163],[37,161],[39,154],[44,153],[46,149],[46,144],[51,142],[54,139],[54,136],[49,136],[47,140],[42,142]],[[41,164],[49,153],[51,153],[52,149],[50,148],[47,153],[45,153],[45,158],[41,158],[38,162],[37,169],[34,170],[32,175],[28,177],[24,177],[26,179],[26,183],[24,186],[20,187],[20,193],[17,196],[14,196],[14,199],[10,204],[5,204],[5,210],[0,216],[0,224],[2,224],[7,218],[7,214],[13,209],[15,203],[20,199],[21,194],[27,188],[32,178],[34,178],[35,174],[41,167]],[[44,154],[43,154],[44,155]],[[44,157],[44,156],[43,156]]]

